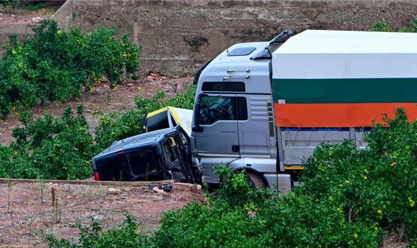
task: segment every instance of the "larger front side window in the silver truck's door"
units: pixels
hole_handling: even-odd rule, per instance
[[[203,96],[200,102],[200,124],[236,121],[236,97]]]

